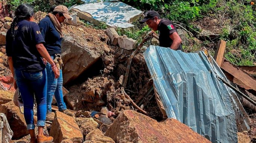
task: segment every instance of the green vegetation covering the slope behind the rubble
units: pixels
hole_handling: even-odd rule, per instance
[[[256,6],[251,5],[250,0],[121,0],[142,11],[155,10],[164,18],[172,21],[182,22],[195,37],[202,29],[195,24],[195,21],[202,22],[205,17],[216,19],[221,24],[216,25],[221,29],[218,39],[215,41],[201,39],[195,42],[194,38],[187,35],[188,42],[184,46],[185,51],[194,52],[202,47],[207,48],[211,54],[216,50],[219,39],[227,42],[225,58],[235,65],[254,65],[256,62]],[[79,3],[78,0],[7,0],[15,10],[21,3],[29,3],[35,6],[36,10],[47,11],[50,6],[64,4],[67,7]],[[139,42],[150,31],[148,26],[133,23],[132,29],[118,29],[120,35]],[[92,26],[86,23],[87,26]],[[92,26],[96,29],[106,29],[107,25],[102,23],[99,26]],[[197,30],[194,32],[191,30]],[[211,29],[210,29],[211,30]],[[212,29],[214,30],[214,29]]]

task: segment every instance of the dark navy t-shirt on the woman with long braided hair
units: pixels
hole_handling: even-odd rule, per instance
[[[36,45],[44,43],[39,26],[35,22],[21,20],[14,30],[13,40],[11,29],[6,33],[6,54],[13,59],[13,67],[22,71],[40,71],[45,68]]]

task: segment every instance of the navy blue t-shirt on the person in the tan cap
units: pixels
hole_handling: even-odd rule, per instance
[[[38,25],[45,40],[44,46],[50,56],[54,56],[56,53],[61,53],[61,41],[63,38],[61,38],[61,35],[54,27],[50,17],[44,17]]]

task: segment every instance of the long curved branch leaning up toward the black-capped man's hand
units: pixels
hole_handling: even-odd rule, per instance
[[[125,77],[124,77],[123,87],[126,87],[133,57],[139,52],[139,50],[142,48],[143,44],[144,44],[146,41],[148,41],[149,39],[150,39],[150,36],[147,35],[146,38],[144,38],[144,39],[142,40],[142,42],[139,44],[139,46],[137,47],[137,49],[136,49],[135,51],[133,51],[132,54],[130,55],[130,57],[129,57],[129,59],[128,59],[129,62],[128,62],[128,65],[127,65],[126,74],[125,74]]]

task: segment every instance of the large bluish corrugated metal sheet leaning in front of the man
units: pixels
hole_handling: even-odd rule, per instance
[[[217,79],[225,76],[204,52],[150,46],[144,57],[168,117],[213,143],[237,143],[234,91]]]

